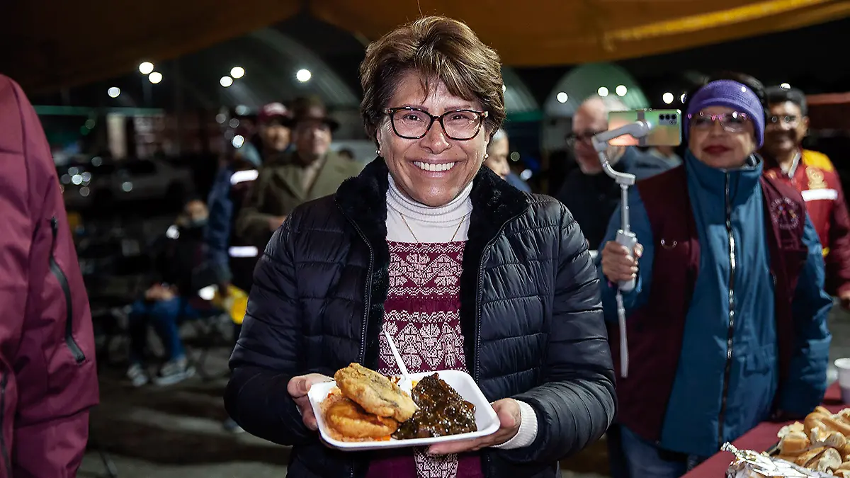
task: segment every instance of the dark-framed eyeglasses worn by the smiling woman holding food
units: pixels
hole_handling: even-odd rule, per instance
[[[439,122],[440,127],[443,128],[443,133],[456,141],[466,141],[477,136],[481,131],[484,118],[490,115],[489,111],[454,110],[446,111],[439,117],[435,117],[428,111],[412,106],[387,108],[383,112],[389,116],[393,131],[400,138],[424,138],[433,123]]]

